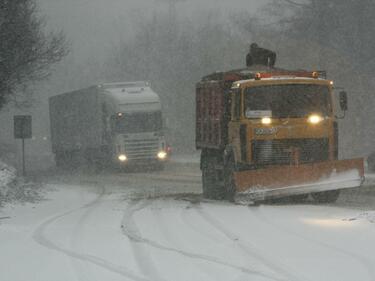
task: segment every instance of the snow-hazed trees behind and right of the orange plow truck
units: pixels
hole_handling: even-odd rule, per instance
[[[257,17],[233,19],[241,33],[277,53],[277,66],[326,70],[349,95],[340,120],[342,157],[375,151],[375,2],[273,0]]]

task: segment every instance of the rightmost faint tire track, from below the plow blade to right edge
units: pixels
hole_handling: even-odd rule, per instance
[[[318,244],[318,245],[322,246],[323,248],[331,249],[333,251],[339,252],[339,253],[341,253],[341,254],[343,254],[345,256],[348,256],[348,257],[350,257],[352,259],[357,260],[360,264],[362,264],[362,266],[365,268],[365,270],[369,274],[369,276],[370,276],[369,280],[375,281],[374,264],[371,261],[367,260],[365,257],[362,257],[362,256],[360,256],[358,254],[355,254],[355,253],[352,253],[350,251],[341,249],[339,247],[330,245],[330,244],[325,243],[323,241],[320,241],[320,240],[317,240],[317,239],[313,239],[313,238],[310,238],[310,237],[305,237],[305,236],[303,236],[303,235],[301,235],[301,234],[299,234],[299,233],[297,233],[295,231],[291,231],[290,229],[287,229],[287,228],[281,226],[280,224],[277,224],[275,222],[271,222],[265,215],[261,214],[261,212],[262,211],[260,209],[258,209],[258,210],[252,211],[251,213],[259,221],[261,221],[261,222],[263,222],[265,224],[268,224],[268,225],[270,225],[273,228],[281,230],[284,233],[287,233],[289,235],[298,237],[298,238],[300,238],[302,240],[305,240],[307,242],[310,242],[310,243]]]

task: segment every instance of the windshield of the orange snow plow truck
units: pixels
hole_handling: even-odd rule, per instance
[[[245,90],[245,116],[269,112],[276,118],[305,117],[331,112],[329,89],[324,85],[289,84],[251,87]]]

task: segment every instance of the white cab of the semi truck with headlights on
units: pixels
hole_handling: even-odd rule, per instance
[[[156,164],[168,159],[159,96],[147,82],[102,84],[110,108],[112,160],[119,165]],[[107,110],[107,109],[106,109]]]

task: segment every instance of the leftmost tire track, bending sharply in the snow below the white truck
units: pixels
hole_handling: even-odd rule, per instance
[[[126,277],[130,280],[134,280],[134,281],[153,281],[153,280],[138,276],[132,270],[130,270],[126,267],[112,264],[112,263],[110,263],[110,262],[108,262],[108,261],[106,261],[102,258],[93,256],[93,255],[88,255],[88,254],[81,254],[81,253],[77,253],[77,252],[74,252],[74,251],[69,250],[69,249],[65,249],[65,248],[57,245],[56,243],[54,243],[52,240],[50,240],[46,236],[45,232],[50,225],[55,223],[57,220],[65,217],[65,216],[68,216],[68,215],[70,215],[74,212],[77,212],[79,210],[82,210],[82,209],[85,209],[85,208],[90,208],[90,207],[94,206],[95,204],[97,204],[101,200],[101,198],[104,196],[104,194],[105,194],[105,189],[104,189],[104,187],[102,187],[101,193],[93,201],[91,201],[91,202],[89,202],[89,203],[87,203],[87,204],[85,204],[85,205],[83,205],[79,208],[76,208],[76,209],[64,212],[62,214],[53,216],[53,217],[47,219],[46,221],[44,221],[34,231],[34,233],[33,233],[34,241],[37,242],[38,244],[40,244],[41,246],[45,247],[45,248],[48,248],[48,249],[53,250],[53,251],[57,251],[59,253],[65,254],[65,255],[67,255],[71,258],[77,259],[77,260],[81,260],[81,261],[84,261],[84,262],[90,262],[90,263],[92,263],[94,265],[97,265],[99,267],[102,267],[102,268],[104,268],[108,271],[120,274],[123,277]]]

